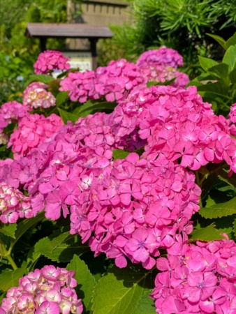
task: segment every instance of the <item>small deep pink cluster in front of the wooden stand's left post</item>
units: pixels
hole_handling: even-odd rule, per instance
[[[53,70],[69,70],[69,59],[55,50],[46,50],[38,55],[36,63],[34,63],[34,72],[36,74],[47,74]]]

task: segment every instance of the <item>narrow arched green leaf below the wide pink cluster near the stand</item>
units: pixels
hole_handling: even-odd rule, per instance
[[[78,114],[78,117],[87,117],[94,111],[104,111],[104,110],[114,110],[117,103],[110,103],[108,101],[94,102],[94,100],[89,100],[80,107],[77,107],[73,113]]]

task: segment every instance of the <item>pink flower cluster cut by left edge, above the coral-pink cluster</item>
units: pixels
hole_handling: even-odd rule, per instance
[[[8,136],[3,133],[3,128],[6,128],[9,124],[20,122],[22,118],[29,116],[31,107],[18,103],[17,101],[10,101],[4,103],[0,107],[0,144],[6,144],[8,142]]]

